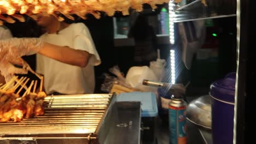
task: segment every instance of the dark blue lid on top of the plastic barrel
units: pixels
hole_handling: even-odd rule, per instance
[[[235,74],[230,73],[224,79],[212,83],[210,94],[216,99],[235,103],[235,83]]]

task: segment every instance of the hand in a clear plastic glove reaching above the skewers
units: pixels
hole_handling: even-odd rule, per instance
[[[0,60],[10,61],[37,53],[44,46],[40,38],[10,38],[0,40]]]

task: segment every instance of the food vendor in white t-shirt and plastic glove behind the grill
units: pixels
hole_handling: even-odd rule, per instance
[[[40,38],[1,40],[2,60],[37,53],[36,71],[44,76],[48,95],[94,93],[94,66],[101,59],[89,29],[84,23],[59,22],[54,16],[37,15],[36,21],[46,32]]]

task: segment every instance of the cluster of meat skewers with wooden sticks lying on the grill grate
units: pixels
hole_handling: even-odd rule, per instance
[[[13,77],[8,83],[0,87],[0,122],[20,122],[22,118],[40,116],[44,114],[44,98],[46,94],[42,91],[42,80],[39,92],[36,93],[37,80],[32,80],[29,87],[26,87],[30,79],[27,77]],[[20,97],[22,89],[24,94]]]

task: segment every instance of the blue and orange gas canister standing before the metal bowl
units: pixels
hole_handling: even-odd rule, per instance
[[[181,96],[172,95],[169,103],[170,144],[187,144],[187,103]]]

